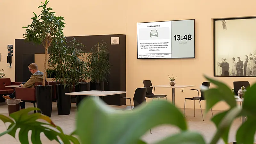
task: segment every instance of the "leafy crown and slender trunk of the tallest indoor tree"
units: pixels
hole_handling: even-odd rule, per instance
[[[52,8],[47,8],[49,0],[41,3],[42,5],[38,7],[43,8],[41,14],[37,16],[34,12],[35,17],[31,18],[33,20],[32,23],[22,28],[26,29],[25,34],[23,34],[25,41],[33,42],[35,44],[43,44],[44,46],[45,57],[43,79],[45,79],[48,48],[52,44],[53,37],[57,37],[61,39],[61,41],[65,40],[63,34],[63,28],[65,27],[65,23],[62,16],[55,16],[55,12],[52,12]],[[43,81],[43,85],[45,85],[45,81]]]

